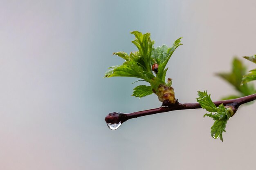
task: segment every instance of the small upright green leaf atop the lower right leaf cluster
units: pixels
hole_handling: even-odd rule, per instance
[[[217,112],[218,108],[211,100],[211,95],[207,94],[207,91],[201,92],[198,91],[198,98],[196,101],[200,104],[200,106],[206,109],[208,112]]]

